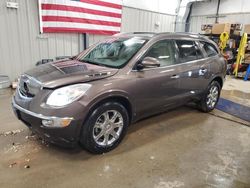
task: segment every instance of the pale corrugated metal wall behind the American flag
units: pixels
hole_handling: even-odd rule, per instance
[[[83,49],[81,34],[39,34],[37,0],[15,0],[18,9],[6,7],[0,1],[0,74],[14,80],[41,59],[75,55]],[[122,32],[173,31],[174,15],[124,7]],[[160,26],[155,27],[159,22]],[[89,44],[106,36],[89,35]]]

